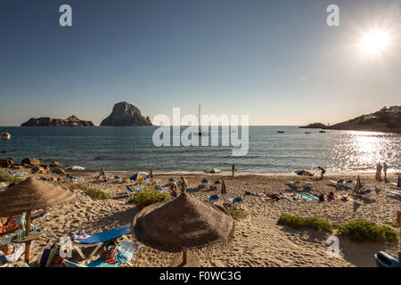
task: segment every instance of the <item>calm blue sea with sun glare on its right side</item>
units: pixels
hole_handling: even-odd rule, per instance
[[[250,126],[248,155],[233,157],[232,147],[156,147],[156,126],[133,127],[0,127],[12,134],[0,140],[0,158],[17,161],[41,158],[50,164],[79,165],[88,170],[191,171],[219,167],[229,171],[234,163],[240,172],[290,173],[322,166],[328,172],[374,172],[386,161],[389,172],[401,169],[401,135],[299,129],[297,126]],[[182,128],[184,130],[184,127]],[[284,134],[277,134],[282,130]],[[305,134],[309,131],[312,134]],[[221,132],[221,130],[220,130]]]

